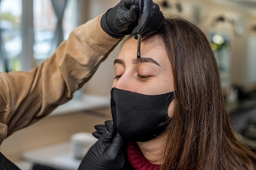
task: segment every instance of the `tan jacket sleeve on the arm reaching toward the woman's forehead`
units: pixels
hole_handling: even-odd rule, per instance
[[[119,41],[101,29],[97,17],[74,29],[30,72],[0,73],[0,144],[70,100]]]

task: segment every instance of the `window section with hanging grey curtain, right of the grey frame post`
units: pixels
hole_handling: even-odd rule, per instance
[[[55,1],[57,2],[57,1]],[[63,4],[61,4],[62,2]],[[61,0],[57,2],[58,7],[54,9],[51,0],[34,0],[33,3],[33,16],[34,16],[34,59],[38,65],[46,58],[49,58],[55,51],[56,46],[53,44],[54,32],[56,31],[56,26],[58,24],[58,18],[56,17],[56,12],[60,16],[59,22],[61,22],[61,41],[67,39],[70,32],[77,26],[76,23],[76,0]],[[62,12],[64,11],[63,15]],[[61,26],[60,25],[60,26]],[[57,29],[58,30],[58,29]],[[60,30],[58,30],[60,31]],[[56,33],[58,35],[58,33]],[[58,37],[55,36],[55,40]],[[60,43],[60,41],[57,43]]]

